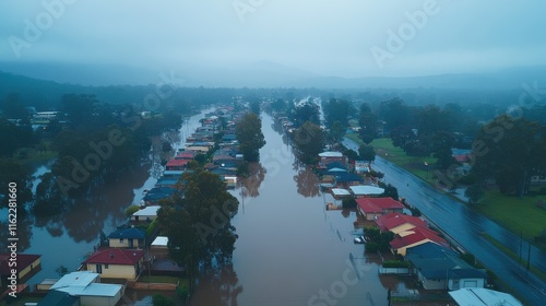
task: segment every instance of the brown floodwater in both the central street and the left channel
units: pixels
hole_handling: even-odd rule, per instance
[[[175,149],[183,146],[210,110],[192,116],[170,136]],[[239,235],[233,264],[205,272],[191,305],[387,305],[388,289],[403,291],[404,285],[379,278],[380,258],[365,256],[364,246],[353,244],[360,233],[353,226],[356,213],[325,211],[333,199],[321,193],[310,169],[296,163],[288,140],[269,115],[262,116],[262,131],[268,143],[261,163],[232,191],[241,203],[233,220]],[[126,221],[124,210],[139,203],[161,174],[161,157],[151,153],[150,160],[69,212],[19,225],[24,252],[43,256],[32,286],[58,278],[60,266],[76,270],[99,233],[109,234]],[[128,291],[123,301],[151,305],[145,292]]]

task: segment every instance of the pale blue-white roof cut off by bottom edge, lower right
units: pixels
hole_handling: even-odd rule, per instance
[[[449,295],[451,295],[451,298],[453,298],[459,306],[523,306],[523,303],[511,294],[483,287],[460,289],[450,292]]]

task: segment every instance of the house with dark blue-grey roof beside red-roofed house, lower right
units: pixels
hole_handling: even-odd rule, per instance
[[[426,290],[484,287],[487,274],[462,260],[456,252],[435,243],[407,249],[405,260]]]

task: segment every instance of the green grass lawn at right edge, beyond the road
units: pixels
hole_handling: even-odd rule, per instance
[[[546,196],[508,197],[496,190],[488,190],[484,199],[473,209],[495,220],[507,229],[524,239],[533,239],[546,229],[546,210],[536,207],[536,201],[546,201]]]

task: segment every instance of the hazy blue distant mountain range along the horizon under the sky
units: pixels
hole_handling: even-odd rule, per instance
[[[143,85],[162,82],[159,71],[124,66],[0,62],[0,71],[59,83],[83,85]],[[512,68],[495,73],[458,73],[405,78],[320,75],[271,61],[232,67],[181,64],[164,70],[179,85],[205,87],[316,87],[316,89],[452,89],[512,90],[537,82],[546,84],[546,67]],[[544,85],[543,85],[544,86]]]

